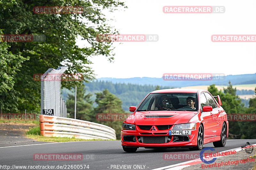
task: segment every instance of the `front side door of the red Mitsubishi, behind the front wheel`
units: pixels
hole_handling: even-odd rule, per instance
[[[212,112],[203,112],[204,106],[209,106],[209,103],[204,95],[201,93],[200,95],[200,103],[201,103],[201,114],[204,119],[204,138],[215,136],[215,120],[213,119]]]

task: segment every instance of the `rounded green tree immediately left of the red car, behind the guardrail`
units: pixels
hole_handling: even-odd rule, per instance
[[[95,102],[98,104],[98,106],[94,108],[95,116],[99,113],[124,113],[124,110],[122,109],[122,101],[118,99],[114,94],[111,94],[107,89],[95,94]],[[101,121],[99,123],[115,129],[116,139],[120,139],[122,121]]]

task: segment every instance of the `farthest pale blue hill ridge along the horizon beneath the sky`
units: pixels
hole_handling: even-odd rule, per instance
[[[215,79],[213,77],[213,79]],[[216,78],[217,79],[217,78]],[[98,78],[102,81],[110,81],[112,83],[130,83],[136,85],[160,85],[169,87],[186,87],[196,85],[228,85],[231,81],[232,85],[255,84],[256,73],[254,74],[241,74],[241,75],[228,75],[224,80],[210,80],[210,81],[165,81],[163,78],[149,78],[149,77],[134,77],[134,78]]]

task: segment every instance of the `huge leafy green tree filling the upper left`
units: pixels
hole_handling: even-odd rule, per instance
[[[82,6],[81,14],[36,14],[35,6]],[[1,34],[44,34],[44,42],[7,42],[2,46],[5,50],[4,60],[17,65],[19,70],[11,74],[7,93],[4,89],[0,95],[1,108],[8,111],[23,110],[26,107],[35,112],[40,112],[40,82],[33,80],[33,74],[44,73],[48,68],[68,66],[66,73],[81,73],[84,81],[94,78],[90,56],[103,55],[113,61],[112,42],[99,42],[98,34],[118,33],[113,27],[108,26],[103,11],[117,10],[125,7],[119,0],[81,1],[81,0],[3,0],[0,2],[0,29]],[[8,22],[7,22],[8,21]],[[80,48],[76,45],[77,39],[82,39],[87,46]],[[20,64],[20,65],[19,65]],[[12,66],[12,67],[13,67]],[[12,78],[13,77],[13,78]],[[63,82],[62,87],[71,89],[81,82]],[[10,96],[15,94],[14,100]]]

